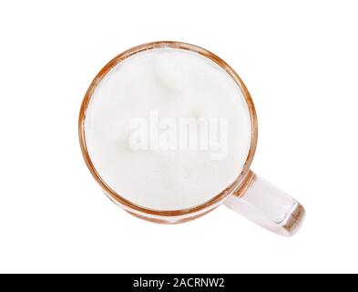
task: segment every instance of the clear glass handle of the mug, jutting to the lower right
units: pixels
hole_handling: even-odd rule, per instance
[[[305,215],[301,203],[251,171],[240,190],[230,194],[224,204],[253,223],[284,236],[294,235]]]

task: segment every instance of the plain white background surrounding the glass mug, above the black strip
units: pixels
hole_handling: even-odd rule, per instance
[[[358,272],[356,1],[2,1],[0,272]],[[273,235],[221,206],[138,220],[83,162],[77,114],[109,59],[180,40],[226,60],[259,117],[252,169],[307,209]]]

